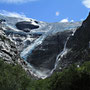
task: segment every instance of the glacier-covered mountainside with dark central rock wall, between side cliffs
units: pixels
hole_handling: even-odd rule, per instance
[[[81,22],[46,23],[4,15],[0,15],[0,18],[2,31],[24,59],[19,62],[38,78],[46,78],[53,73],[58,54],[63,51],[67,38],[81,25]]]

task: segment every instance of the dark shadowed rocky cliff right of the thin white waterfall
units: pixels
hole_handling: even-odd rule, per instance
[[[66,68],[70,64],[82,64],[90,60],[90,14],[67,42],[68,53],[60,58],[59,67]]]

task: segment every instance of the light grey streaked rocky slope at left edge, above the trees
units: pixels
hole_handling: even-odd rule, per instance
[[[19,59],[15,44],[5,35],[2,28],[0,28],[0,58],[3,58],[8,63],[14,63]]]

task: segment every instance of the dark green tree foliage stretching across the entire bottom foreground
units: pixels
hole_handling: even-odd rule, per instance
[[[90,90],[90,62],[71,65],[44,80],[32,80],[20,65],[0,60],[0,90]]]

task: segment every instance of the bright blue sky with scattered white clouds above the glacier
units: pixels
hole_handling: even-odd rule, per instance
[[[89,11],[90,0],[0,0],[0,13],[45,22],[81,21]]]

